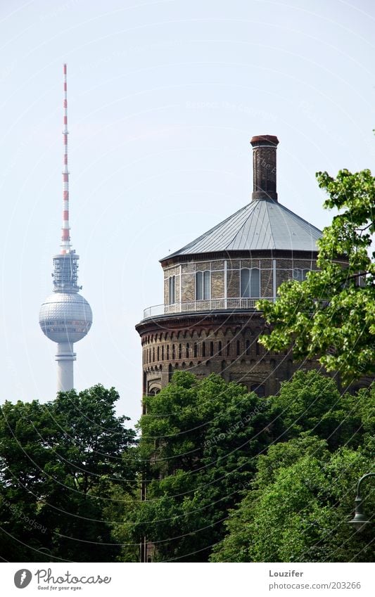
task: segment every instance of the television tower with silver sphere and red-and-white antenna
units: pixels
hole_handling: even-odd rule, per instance
[[[73,351],[74,342],[87,335],[92,323],[91,307],[79,294],[79,255],[70,244],[69,226],[69,172],[68,172],[68,100],[66,64],[64,73],[64,117],[63,117],[63,229],[61,251],[53,257],[53,294],[46,298],[39,312],[39,325],[47,338],[57,342],[57,389],[68,392],[74,387]]]

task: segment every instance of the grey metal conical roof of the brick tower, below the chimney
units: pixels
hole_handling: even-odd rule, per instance
[[[321,236],[319,229],[281,203],[260,199],[248,203],[224,222],[164,259],[215,251],[317,251],[317,240]]]

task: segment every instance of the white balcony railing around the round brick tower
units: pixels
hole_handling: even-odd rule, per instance
[[[274,297],[252,298],[221,298],[210,300],[193,300],[191,302],[175,302],[173,304],[155,304],[144,309],[144,319],[158,315],[172,313],[195,313],[200,311],[232,311],[234,309],[255,309],[255,304],[260,299],[274,301]]]

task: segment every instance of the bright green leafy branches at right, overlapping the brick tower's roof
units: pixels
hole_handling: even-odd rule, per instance
[[[339,211],[318,241],[319,270],[281,284],[275,303],[258,301],[272,325],[260,341],[275,351],[293,343],[295,359],[318,357],[350,383],[375,373],[375,179],[369,170],[346,169],[317,179],[329,193],[324,207]]]

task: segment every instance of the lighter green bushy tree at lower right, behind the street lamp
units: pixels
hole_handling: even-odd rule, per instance
[[[270,447],[258,458],[253,489],[230,513],[229,532],[211,561],[372,561],[371,529],[358,533],[347,521],[357,480],[371,470],[373,449],[341,447],[332,454],[317,437]],[[365,504],[371,513],[371,487]]]

